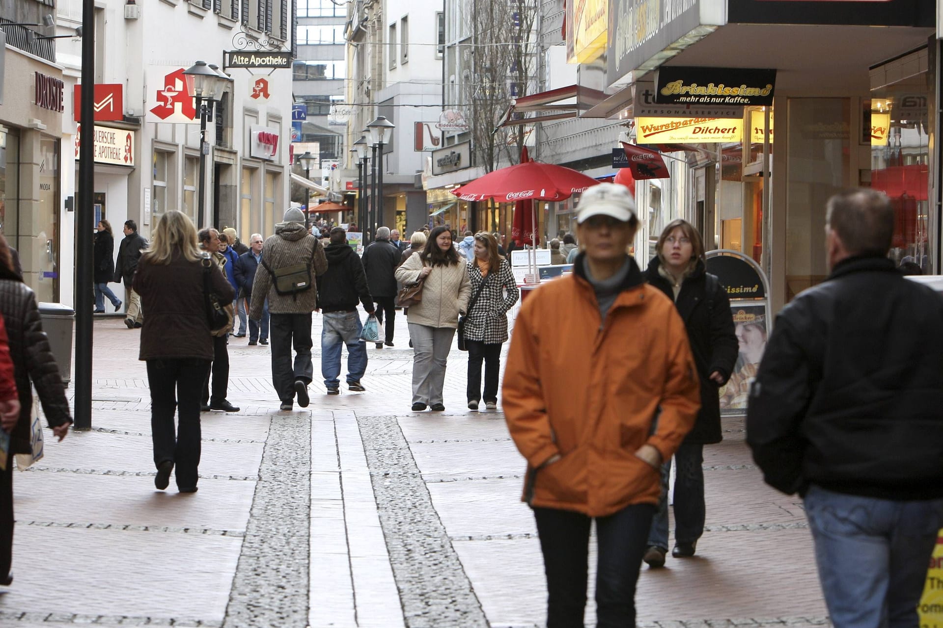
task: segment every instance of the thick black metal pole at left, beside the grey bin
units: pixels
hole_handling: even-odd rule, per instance
[[[82,6],[82,118],[75,222],[75,411],[74,428],[91,429],[91,289],[95,191],[95,3]]]

